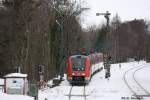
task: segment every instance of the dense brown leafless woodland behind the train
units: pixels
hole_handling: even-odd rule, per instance
[[[0,76],[19,66],[37,80],[43,65],[45,80],[65,72],[69,55],[83,48],[89,53],[108,50],[112,61],[150,60],[150,23],[143,19],[121,22],[118,15],[106,25],[82,29],[86,11],[70,0],[5,0],[0,8]]]

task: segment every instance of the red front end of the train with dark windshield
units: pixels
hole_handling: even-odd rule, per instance
[[[88,83],[91,77],[90,59],[84,55],[68,58],[67,79],[70,83]]]

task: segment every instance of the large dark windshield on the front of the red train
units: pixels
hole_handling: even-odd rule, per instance
[[[86,58],[83,58],[81,56],[72,58],[73,71],[84,71],[85,70],[85,61],[86,61]]]

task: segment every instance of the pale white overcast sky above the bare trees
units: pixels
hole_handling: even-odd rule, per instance
[[[79,0],[80,1],[80,0]],[[111,13],[111,18],[116,13],[121,17],[122,21],[133,19],[150,19],[150,0],[81,0],[82,7],[89,7],[81,16],[83,27],[91,24],[99,25],[104,23],[103,16],[96,16],[97,12]]]

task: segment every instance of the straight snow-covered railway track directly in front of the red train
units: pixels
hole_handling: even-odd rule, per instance
[[[69,100],[86,100],[86,89],[85,89],[85,85],[84,86],[71,86],[70,91],[69,91]],[[78,90],[77,88],[80,88],[81,91],[74,91],[74,90]],[[80,93],[77,93],[80,92]]]

